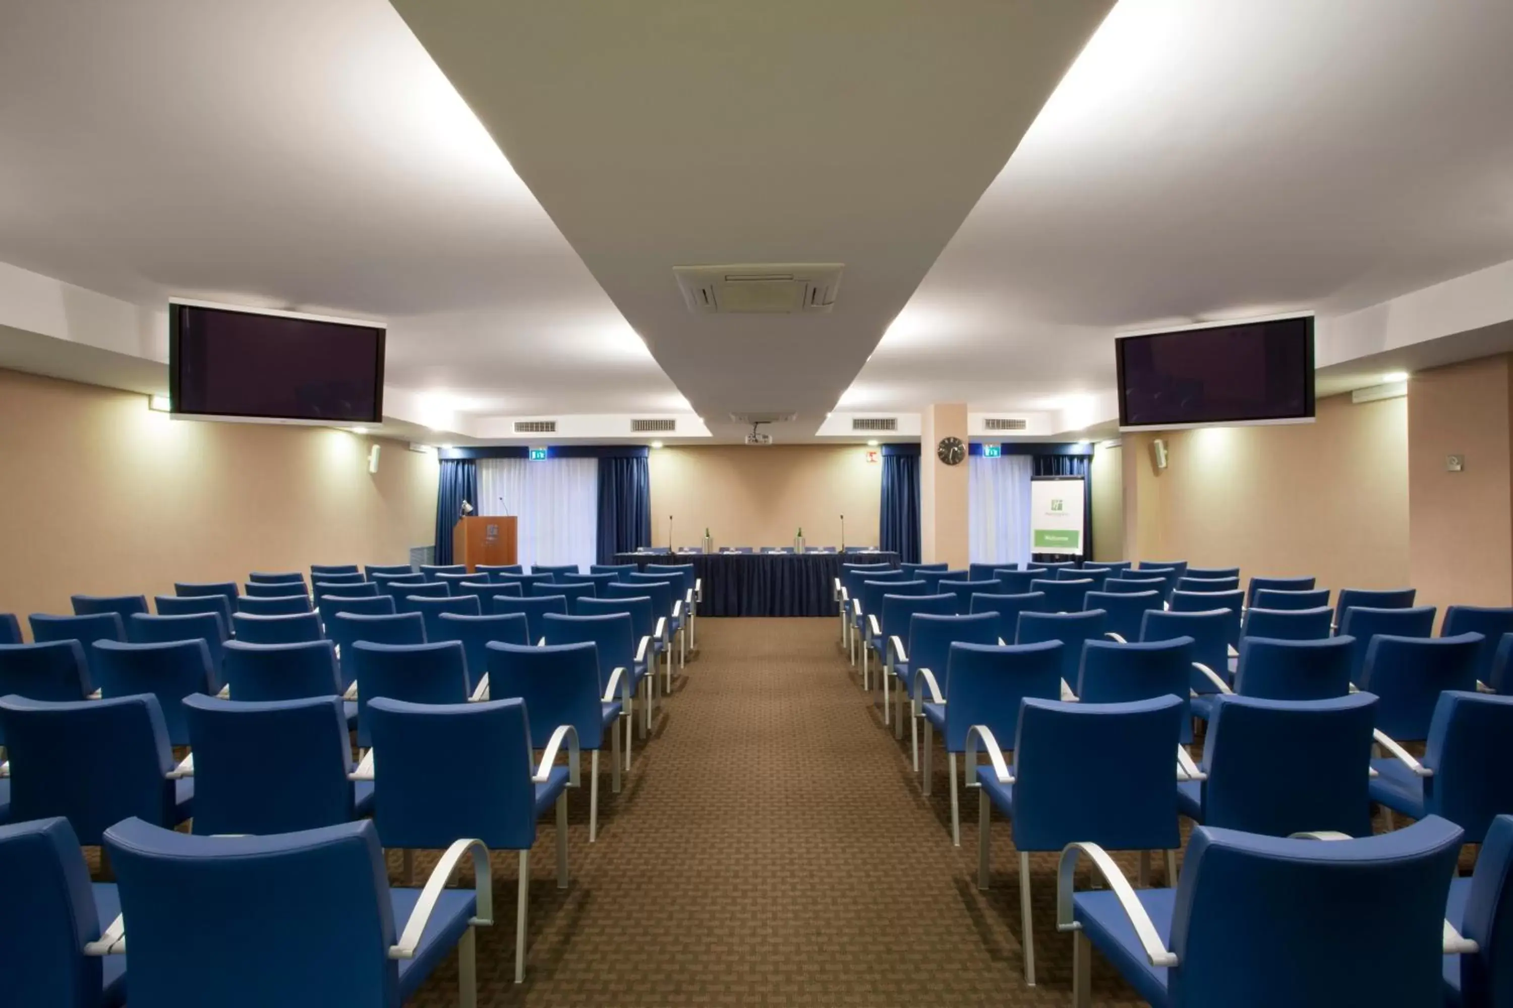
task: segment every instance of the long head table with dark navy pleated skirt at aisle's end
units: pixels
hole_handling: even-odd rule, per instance
[[[617,553],[616,564],[693,564],[701,617],[837,617],[835,579],[847,564],[897,567],[897,553]]]

